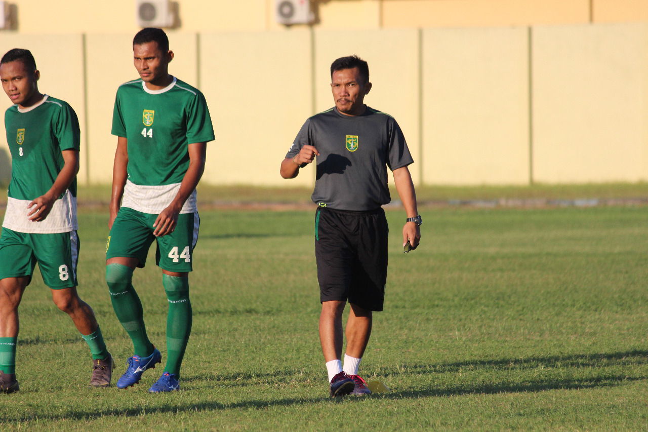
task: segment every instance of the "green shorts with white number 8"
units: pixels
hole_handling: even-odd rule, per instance
[[[76,287],[79,237],[76,231],[30,234],[3,228],[0,235],[0,279],[29,276],[38,263],[43,282],[51,289]]]

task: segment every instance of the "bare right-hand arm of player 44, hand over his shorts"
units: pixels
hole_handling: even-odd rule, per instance
[[[198,182],[205,172],[205,159],[207,155],[207,143],[189,144],[189,168],[182,178],[180,189],[171,204],[165,210],[162,210],[153,226],[156,228],[153,232],[157,237],[171,234],[178,224],[178,215],[182,206],[185,205],[189,195],[196,189]]]

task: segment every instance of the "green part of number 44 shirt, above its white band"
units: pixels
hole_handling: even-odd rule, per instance
[[[187,146],[214,139],[205,97],[177,78],[156,91],[141,79],[122,84],[112,134],[128,139],[128,180],[142,186],[181,183],[189,168]]]

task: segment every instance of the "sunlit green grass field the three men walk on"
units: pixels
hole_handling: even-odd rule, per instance
[[[133,389],[88,389],[86,345],[37,275],[0,429],[648,428],[648,207],[421,214],[422,246],[403,254],[403,213],[388,211],[386,309],[361,365],[391,392],[328,396],[311,210],[204,210],[183,390],[148,394],[160,368]],[[80,293],[119,376],[132,345],[104,282],[106,214],[79,219]],[[154,250],[133,284],[164,356]]]

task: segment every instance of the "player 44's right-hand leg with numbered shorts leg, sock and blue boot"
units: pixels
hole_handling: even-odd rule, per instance
[[[200,217],[198,212],[181,214],[171,234],[157,239],[157,265],[162,269],[162,285],[167,294],[167,364],[164,372],[150,392],[179,389],[180,366],[191,335],[192,309],[189,298],[189,272]]]

